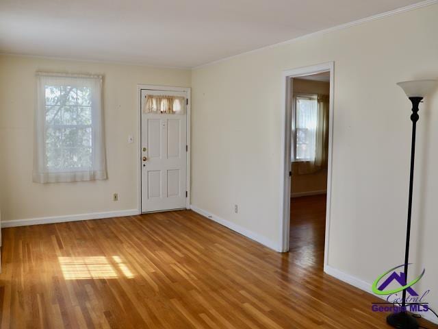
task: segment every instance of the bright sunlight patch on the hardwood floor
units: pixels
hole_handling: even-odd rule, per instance
[[[105,256],[58,257],[58,261],[66,280],[134,277],[119,256],[110,259]]]

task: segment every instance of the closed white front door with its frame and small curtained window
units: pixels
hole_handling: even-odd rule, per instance
[[[190,88],[138,86],[140,213],[190,208]]]

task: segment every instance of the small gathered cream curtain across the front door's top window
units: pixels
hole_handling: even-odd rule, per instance
[[[185,97],[146,95],[143,113],[185,114]]]

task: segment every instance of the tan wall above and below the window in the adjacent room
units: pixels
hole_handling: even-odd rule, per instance
[[[312,81],[304,79],[294,79],[294,94],[330,94],[330,83],[322,81]],[[315,173],[298,175],[292,163],[291,193],[292,197],[300,195],[311,195],[321,193],[327,188],[327,169],[322,169]]]

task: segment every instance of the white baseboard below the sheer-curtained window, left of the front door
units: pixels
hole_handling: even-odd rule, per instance
[[[13,228],[16,226],[64,223],[66,221],[84,221],[87,219],[103,219],[103,218],[111,218],[111,217],[133,216],[138,214],[139,214],[138,209],[128,209],[128,210],[116,210],[116,211],[105,211],[105,212],[90,212],[88,214],[79,214],[79,215],[16,219],[11,221],[1,221],[1,227]]]

